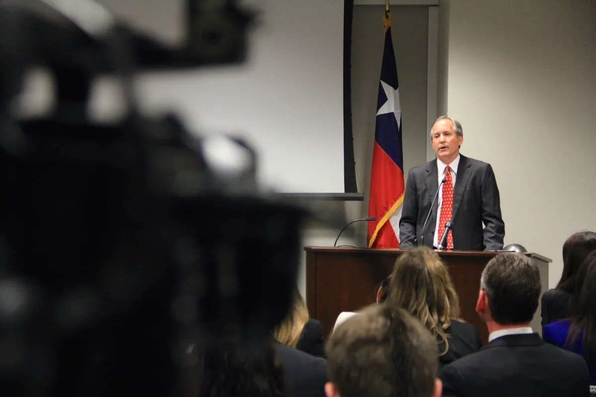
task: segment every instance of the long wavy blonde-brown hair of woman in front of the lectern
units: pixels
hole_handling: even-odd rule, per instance
[[[446,330],[460,315],[460,304],[449,272],[439,255],[427,247],[405,252],[395,261],[386,302],[398,305],[430,330],[449,349]]]

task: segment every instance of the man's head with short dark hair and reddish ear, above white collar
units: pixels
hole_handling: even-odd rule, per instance
[[[529,325],[541,293],[538,266],[525,255],[498,254],[480,279],[476,311],[489,332]]]

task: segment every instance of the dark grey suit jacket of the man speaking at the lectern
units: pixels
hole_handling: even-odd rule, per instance
[[[491,164],[460,156],[452,211],[453,248],[471,251],[502,249],[505,223]],[[436,159],[409,171],[399,222],[399,248],[414,248],[420,242],[424,220],[439,187],[438,172]],[[430,248],[433,247],[437,222],[437,201],[424,229],[424,245]]]

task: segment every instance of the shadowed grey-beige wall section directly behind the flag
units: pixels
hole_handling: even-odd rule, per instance
[[[352,123],[354,157],[358,173],[358,191],[363,192],[362,202],[331,202],[328,211],[344,212],[346,220],[368,214],[368,188],[370,185],[375,114],[378,84],[383,58],[382,5],[356,5],[352,28]],[[399,94],[403,124],[403,166],[405,172],[426,161],[426,95],[427,95],[427,45],[428,7],[394,6],[393,47],[399,75]],[[353,229],[352,229],[353,228]],[[350,233],[353,231],[353,235]],[[339,229],[306,227],[303,245],[333,245]],[[340,243],[365,246],[367,225],[360,222],[344,232]],[[345,236],[345,237],[344,237]],[[304,259],[303,259],[304,263]],[[302,267],[299,287],[305,291],[305,273]]]

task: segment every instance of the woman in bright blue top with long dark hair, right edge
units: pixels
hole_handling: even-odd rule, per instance
[[[545,342],[582,355],[596,386],[596,251],[588,255],[578,274],[576,312],[544,327]],[[596,389],[596,387],[591,387]]]

